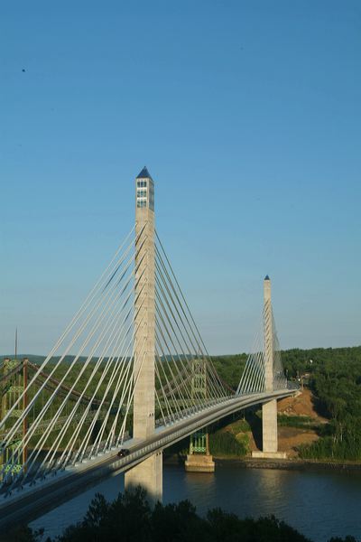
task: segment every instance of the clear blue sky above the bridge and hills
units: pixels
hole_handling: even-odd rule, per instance
[[[360,344],[359,0],[0,7],[0,353],[46,354],[156,183],[211,353]]]

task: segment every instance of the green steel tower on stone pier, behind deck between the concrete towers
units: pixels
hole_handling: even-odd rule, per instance
[[[191,361],[191,388],[190,397],[207,398],[207,364],[206,360],[195,359]],[[207,428],[200,429],[190,435],[190,453],[187,455],[185,468],[188,472],[214,472],[215,463],[209,453],[209,435]]]

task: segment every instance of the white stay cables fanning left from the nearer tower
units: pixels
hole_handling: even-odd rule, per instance
[[[14,465],[20,456],[26,460],[16,474],[24,482],[123,441],[133,391],[134,247],[143,243],[142,233],[135,238],[132,229],[125,238],[35,372],[26,388],[28,402],[21,416],[14,418],[13,412],[23,405],[25,392],[1,421],[0,433],[5,429],[3,446],[8,448],[0,470],[5,483],[14,483]],[[74,351],[76,355],[72,355]],[[48,391],[52,379],[58,384]],[[19,429],[32,417],[34,421],[23,437],[15,440]],[[63,423],[57,430],[61,418]]]

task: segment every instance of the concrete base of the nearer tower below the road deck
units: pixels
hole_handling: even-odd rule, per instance
[[[125,472],[125,490],[132,491],[138,486],[142,486],[147,492],[151,504],[154,505],[158,500],[162,502],[162,452],[154,453],[130,471]]]

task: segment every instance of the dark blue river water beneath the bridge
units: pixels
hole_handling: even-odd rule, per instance
[[[84,516],[96,492],[113,500],[124,490],[119,474],[69,500],[34,521],[55,537]],[[353,535],[361,542],[361,472],[325,470],[281,471],[246,469],[221,463],[211,474],[185,472],[182,466],[164,465],[163,502],[189,499],[200,514],[220,507],[239,517],[273,514],[314,542]]]

